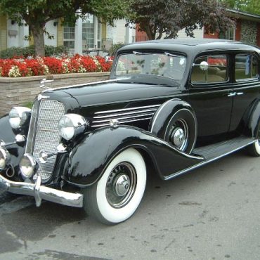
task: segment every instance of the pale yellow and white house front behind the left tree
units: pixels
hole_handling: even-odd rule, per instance
[[[45,35],[46,45],[64,45],[70,48],[71,53],[89,53],[90,51],[108,51],[112,44],[131,43],[135,39],[135,30],[126,27],[126,20],[116,20],[115,27],[106,25],[94,15],[78,18],[76,25],[66,25],[61,20],[51,20],[46,23],[46,30],[53,35],[48,39]],[[30,28],[18,26],[6,15],[0,15],[0,51],[18,46],[29,46],[33,40],[27,41]]]

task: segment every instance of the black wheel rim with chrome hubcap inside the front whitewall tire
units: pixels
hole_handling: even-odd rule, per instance
[[[136,169],[129,162],[120,162],[112,169],[105,188],[108,203],[115,208],[124,207],[136,191]]]

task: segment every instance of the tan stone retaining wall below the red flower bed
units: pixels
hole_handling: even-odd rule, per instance
[[[0,117],[8,113],[11,108],[25,105],[34,100],[34,97],[44,89],[40,89],[41,79],[54,79],[46,86],[57,88],[74,84],[84,84],[108,79],[110,72],[57,74],[51,76],[34,76],[8,78],[0,77]]]

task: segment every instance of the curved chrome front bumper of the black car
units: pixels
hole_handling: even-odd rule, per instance
[[[4,188],[10,193],[33,196],[37,207],[41,205],[41,200],[48,200],[71,207],[83,207],[82,194],[67,193],[63,190],[41,186],[40,176],[37,177],[35,183],[25,183],[10,181],[0,174],[0,188]]]

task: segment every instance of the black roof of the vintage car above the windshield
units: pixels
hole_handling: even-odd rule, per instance
[[[121,51],[134,51],[134,50],[169,50],[177,51],[181,53],[193,55],[202,51],[232,51],[232,50],[245,50],[245,51],[256,51],[259,53],[259,48],[249,44],[245,44],[242,41],[230,41],[226,39],[193,39],[193,38],[178,38],[178,39],[160,39],[153,41],[140,41],[134,44],[127,44],[122,48]]]

